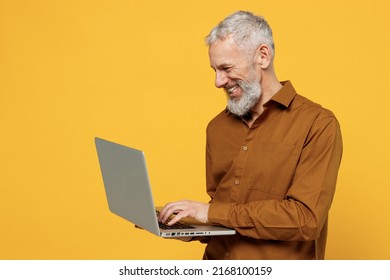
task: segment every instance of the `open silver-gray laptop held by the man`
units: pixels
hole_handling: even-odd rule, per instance
[[[165,238],[233,235],[234,229],[194,219],[167,226],[158,222],[143,151],[95,138],[109,209],[157,236]]]

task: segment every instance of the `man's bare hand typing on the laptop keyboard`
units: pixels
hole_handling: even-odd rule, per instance
[[[172,214],[176,214],[172,220],[168,222],[168,225],[173,225],[185,217],[193,218],[201,223],[207,223],[209,207],[210,204],[208,203],[191,200],[171,202],[161,209],[158,220],[159,222],[166,223]]]

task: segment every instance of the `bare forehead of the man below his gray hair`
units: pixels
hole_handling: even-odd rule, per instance
[[[229,37],[223,40],[217,40],[209,47],[210,65],[214,69],[222,65],[235,64],[243,56],[244,52]]]

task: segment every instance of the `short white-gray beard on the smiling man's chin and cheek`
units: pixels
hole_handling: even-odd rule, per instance
[[[258,81],[238,81],[243,94],[238,100],[228,98],[228,110],[239,117],[245,116],[256,105],[261,96],[261,87]]]

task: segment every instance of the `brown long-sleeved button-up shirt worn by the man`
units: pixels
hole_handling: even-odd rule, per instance
[[[290,82],[249,128],[228,111],[207,127],[209,221],[205,259],[323,259],[342,139],[332,112]]]

